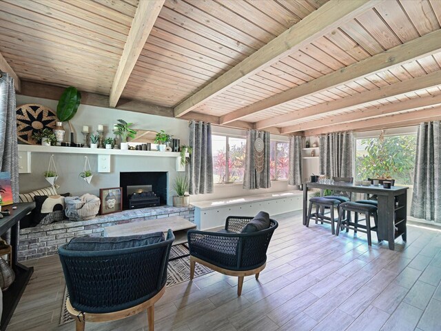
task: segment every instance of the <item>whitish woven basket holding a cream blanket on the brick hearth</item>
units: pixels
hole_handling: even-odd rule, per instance
[[[70,221],[85,221],[93,219],[99,212],[101,201],[93,194],[84,194],[81,197],[65,198],[65,214]]]

